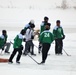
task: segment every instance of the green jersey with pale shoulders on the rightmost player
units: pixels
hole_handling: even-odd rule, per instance
[[[55,26],[55,28],[53,29],[53,34],[54,34],[54,38],[58,39],[58,38],[63,38],[64,32],[63,32],[63,28],[60,26]]]

